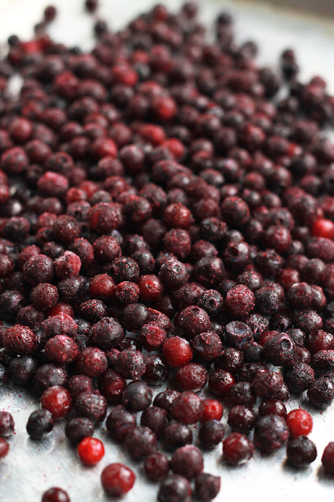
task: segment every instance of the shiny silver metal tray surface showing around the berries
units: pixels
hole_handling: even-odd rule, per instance
[[[51,27],[55,38],[69,44],[89,48],[92,44],[92,20],[82,12],[83,0],[58,0],[59,17]],[[150,0],[101,0],[102,13],[113,28],[120,27],[136,13],[153,5]],[[171,8],[180,5],[177,0],[166,2]],[[6,4],[6,5],[5,5]],[[5,41],[12,33],[31,37],[32,27],[39,20],[45,0],[0,0],[0,37]],[[231,2],[201,4],[202,19],[212,20],[221,9],[236,15],[236,32],[239,40],[254,39],[260,48],[259,60],[272,65],[280,51],[287,46],[296,50],[301,66],[301,77],[313,74],[327,78],[328,88],[334,92],[334,28],[332,23],[316,21],[310,17],[295,17],[276,12],[270,7],[235,5]],[[159,389],[160,390],[160,389]],[[146,481],[140,463],[134,463],[108,437],[103,424],[96,436],[103,440],[106,454],[95,467],[83,467],[75,452],[69,448],[64,436],[64,424],[57,424],[43,441],[32,441],[26,433],[30,413],[38,402],[27,391],[11,384],[1,391],[0,407],[10,411],[16,422],[16,433],[10,439],[10,453],[0,462],[0,500],[4,502],[39,502],[42,493],[50,486],[61,486],[68,491],[72,502],[103,502],[107,500],[100,485],[100,473],[113,461],[125,462],[136,472],[133,490],[124,502],[151,502],[156,499],[157,485]],[[303,470],[287,466],[285,449],[262,457],[258,452],[243,467],[228,468],[221,461],[221,445],[205,454],[205,470],[221,475],[221,492],[217,502],[227,499],[294,500],[332,496],[334,480],[320,467],[324,446],[334,440],[334,407],[324,412],[314,412],[302,400],[292,400],[289,406],[301,404],[313,416],[314,428],[310,438],[316,443],[318,457],[311,467]],[[226,411],[223,422],[226,423]]]

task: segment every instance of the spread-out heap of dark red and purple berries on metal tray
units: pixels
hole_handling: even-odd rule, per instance
[[[225,13],[210,45],[194,2],[117,33],[97,20],[90,53],[50,39],[55,16],[31,41],[11,36],[0,61],[0,381],[40,400],[28,434],[63,420],[93,465],[107,417],[160,502],[213,499],[201,449],[220,443],[229,465],[285,444],[294,466],[313,462],[312,419],[284,403],[334,398],[325,82],[300,83],[292,50],[281,76],[258,67]],[[0,413],[0,457],[13,431]],[[334,473],[334,443],[322,463]],[[135,474],[109,464],[101,482],[119,496]]]

